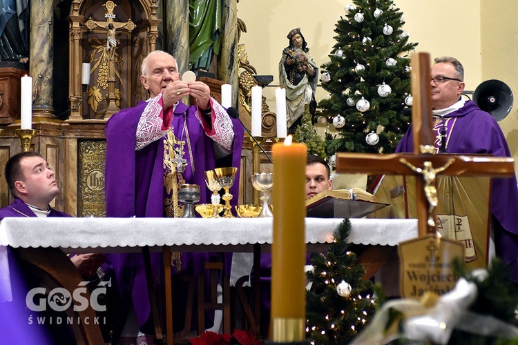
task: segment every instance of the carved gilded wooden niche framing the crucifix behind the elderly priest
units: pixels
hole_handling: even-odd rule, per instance
[[[140,66],[158,38],[157,1],[75,0],[70,15],[68,121],[107,119],[146,99]],[[111,32],[108,25],[113,25]],[[108,49],[108,37],[116,44]],[[113,51],[115,50],[115,51]],[[81,64],[90,63],[90,83],[81,87]],[[84,99],[83,99],[84,97]],[[81,101],[83,99],[83,101]]]

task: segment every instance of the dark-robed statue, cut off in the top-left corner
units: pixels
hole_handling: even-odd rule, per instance
[[[28,0],[0,4],[0,61],[26,63],[29,56]]]

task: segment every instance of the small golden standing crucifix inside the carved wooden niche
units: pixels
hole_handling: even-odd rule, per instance
[[[108,95],[106,95],[106,107],[103,110],[98,112],[100,117],[104,119],[108,119],[111,115],[118,112],[120,108],[117,106],[117,97],[115,96],[115,50],[117,49],[117,39],[115,38],[117,29],[124,29],[128,32],[131,32],[135,28],[135,23],[128,19],[126,23],[118,23],[113,21],[115,19],[115,3],[113,1],[106,1],[102,5],[104,8],[104,17],[106,21],[94,21],[93,19],[88,19],[86,21],[86,27],[88,30],[93,30],[95,28],[104,28],[106,29],[106,59],[108,63]]]

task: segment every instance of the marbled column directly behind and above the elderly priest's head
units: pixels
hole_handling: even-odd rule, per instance
[[[189,1],[168,3],[164,13],[164,50],[175,57],[178,71],[189,70]]]

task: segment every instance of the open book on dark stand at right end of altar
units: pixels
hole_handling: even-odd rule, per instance
[[[388,206],[360,188],[325,190],[306,200],[307,217],[361,218]]]

